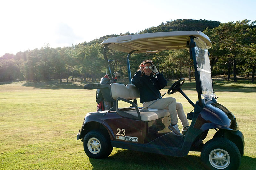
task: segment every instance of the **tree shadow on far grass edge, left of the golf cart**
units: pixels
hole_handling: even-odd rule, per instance
[[[54,81],[48,81],[48,82],[26,82],[22,84],[22,86],[25,87],[34,87],[39,89],[84,89],[84,84],[86,82],[81,82],[80,84],[74,84],[74,83],[66,83],[66,82],[54,82]]]

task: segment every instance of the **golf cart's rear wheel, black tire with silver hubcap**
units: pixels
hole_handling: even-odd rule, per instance
[[[84,152],[90,158],[107,158],[113,150],[108,135],[92,130],[84,136]]]

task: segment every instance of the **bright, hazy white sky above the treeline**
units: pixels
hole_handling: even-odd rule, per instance
[[[175,19],[252,22],[255,7],[256,0],[6,0],[0,2],[0,56],[138,33]]]

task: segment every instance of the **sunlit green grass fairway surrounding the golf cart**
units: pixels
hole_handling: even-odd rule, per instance
[[[173,82],[168,84],[171,85]],[[76,140],[84,116],[96,110],[96,90],[84,83],[16,82],[0,85],[0,169],[204,169],[199,152],[184,158],[114,148],[103,160],[91,159]],[[195,82],[182,87],[196,102]],[[256,167],[256,84],[214,80],[218,102],[239,122],[245,149],[239,169]],[[163,94],[167,89],[161,90]],[[170,97],[165,95],[164,97]],[[171,95],[184,106],[193,107],[179,93]],[[121,104],[121,106],[126,104]],[[141,104],[139,104],[141,106]],[[214,130],[204,140],[212,138]]]

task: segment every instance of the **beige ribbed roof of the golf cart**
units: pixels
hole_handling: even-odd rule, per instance
[[[136,50],[134,53],[157,53],[163,50],[189,48],[187,41],[190,42],[190,36],[200,38],[206,46],[212,47],[209,37],[201,31],[172,31],[125,35],[108,38],[101,44],[104,46],[109,44],[108,48],[127,53],[134,50]]]

